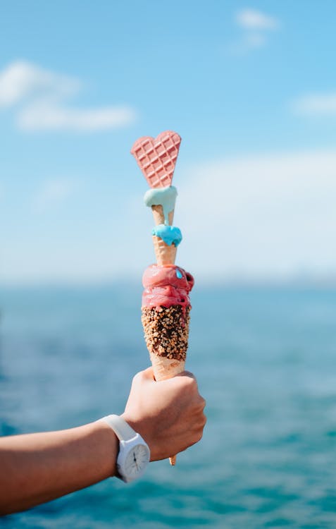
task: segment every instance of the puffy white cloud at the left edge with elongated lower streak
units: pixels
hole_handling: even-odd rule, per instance
[[[131,107],[74,108],[65,102],[80,91],[75,78],[44,70],[25,61],[0,72],[0,107],[14,107],[21,130],[106,130],[130,125]]]

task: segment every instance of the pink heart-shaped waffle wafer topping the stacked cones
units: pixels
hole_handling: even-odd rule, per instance
[[[149,187],[171,186],[180,142],[180,136],[172,130],[166,130],[156,138],[144,136],[135,142],[131,153],[137,160]]]

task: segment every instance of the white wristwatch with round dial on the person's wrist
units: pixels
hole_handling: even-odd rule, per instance
[[[148,444],[119,415],[106,415],[99,420],[106,422],[120,441],[118,478],[130,483],[142,476],[151,456]]]

